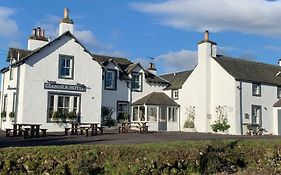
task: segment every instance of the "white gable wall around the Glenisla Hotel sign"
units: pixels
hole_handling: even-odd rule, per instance
[[[74,79],[59,79],[59,54],[74,56]],[[102,98],[102,68],[74,39],[64,36],[50,47],[31,56],[21,67],[18,123],[42,123],[48,131],[62,130],[62,126],[47,123],[48,91],[44,82],[85,84],[81,93],[81,121],[100,122]],[[53,91],[53,90],[52,90]],[[63,91],[60,91],[63,92]]]

